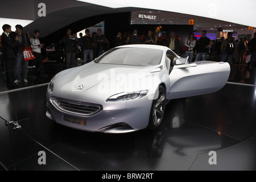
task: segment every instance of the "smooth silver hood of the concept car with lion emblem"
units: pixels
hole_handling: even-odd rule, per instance
[[[100,94],[115,94],[124,92],[124,85],[127,85],[127,82],[140,78],[141,75],[146,76],[153,68],[154,66],[135,67],[92,62],[72,69],[64,76],[56,77],[54,84],[58,90],[81,93],[93,88],[94,92]]]

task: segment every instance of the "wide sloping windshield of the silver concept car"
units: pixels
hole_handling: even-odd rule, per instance
[[[151,48],[113,48],[95,62],[102,64],[123,64],[136,66],[158,65],[163,51]]]

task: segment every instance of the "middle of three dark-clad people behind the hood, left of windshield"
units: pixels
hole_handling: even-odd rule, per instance
[[[85,36],[82,37],[82,43],[84,44],[84,64],[89,63],[93,60],[93,40],[92,35],[90,35],[90,30],[85,30]],[[88,60],[89,56],[89,60]]]

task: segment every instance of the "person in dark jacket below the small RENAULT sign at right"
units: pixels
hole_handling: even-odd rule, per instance
[[[228,38],[222,41],[221,44],[221,62],[228,62],[231,64],[233,55],[236,49],[236,42],[232,37],[232,32],[228,32]]]

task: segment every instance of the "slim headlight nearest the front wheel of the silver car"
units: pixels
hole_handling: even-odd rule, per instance
[[[129,101],[129,100],[136,100],[146,96],[149,90],[142,90],[138,92],[131,92],[131,93],[118,93],[114,96],[109,97],[106,102],[113,102],[113,101]]]

